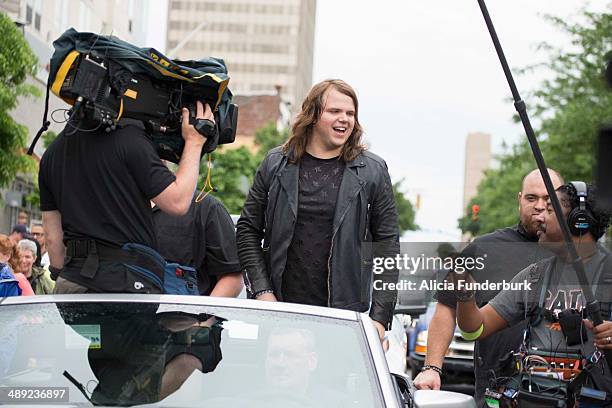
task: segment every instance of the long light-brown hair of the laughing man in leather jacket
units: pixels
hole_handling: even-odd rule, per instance
[[[350,162],[365,150],[365,146],[361,144],[363,129],[359,124],[359,103],[355,90],[341,79],[326,79],[313,86],[306,95],[304,102],[302,102],[302,111],[298,113],[291,127],[291,137],[283,145],[283,152],[289,155],[289,160],[292,163],[299,162],[306,152],[306,145],[312,135],[312,129],[323,111],[325,104],[323,96],[329,89],[335,89],[350,97],[355,105],[355,126],[346,143],[342,146],[340,158],[345,162]]]

